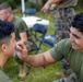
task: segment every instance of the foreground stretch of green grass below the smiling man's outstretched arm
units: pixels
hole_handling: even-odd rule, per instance
[[[24,79],[17,79],[19,73],[19,65],[15,66],[15,61],[11,57],[5,67],[4,72],[13,80],[13,82],[52,82],[56,80],[56,72],[60,70],[60,63],[57,65],[50,65],[46,68],[39,67],[39,68],[33,68],[31,69],[29,74]]]

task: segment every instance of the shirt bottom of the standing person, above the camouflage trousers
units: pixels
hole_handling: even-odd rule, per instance
[[[58,8],[69,8],[76,5],[78,0],[62,0],[62,3],[58,5]]]

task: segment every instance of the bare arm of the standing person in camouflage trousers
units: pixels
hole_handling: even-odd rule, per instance
[[[42,11],[48,12],[51,4],[56,3],[57,5],[60,4],[63,0],[48,0],[45,5],[43,7]]]

